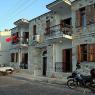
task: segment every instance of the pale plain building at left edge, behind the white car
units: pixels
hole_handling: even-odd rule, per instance
[[[11,31],[0,31],[0,66],[10,65],[11,43],[6,42],[6,38],[11,36]]]

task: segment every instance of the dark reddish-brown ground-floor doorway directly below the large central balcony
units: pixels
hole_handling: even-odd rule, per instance
[[[63,72],[72,72],[72,49],[63,50]]]

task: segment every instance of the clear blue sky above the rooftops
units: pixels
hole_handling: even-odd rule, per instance
[[[1,0],[0,31],[11,29],[14,22],[25,18],[31,20],[48,12],[46,5],[55,0]]]

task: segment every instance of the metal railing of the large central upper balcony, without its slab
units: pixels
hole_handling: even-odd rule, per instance
[[[46,36],[55,36],[58,34],[65,34],[65,35],[72,36],[72,26],[67,24],[65,24],[64,26],[61,24],[54,25],[46,28],[44,34]]]

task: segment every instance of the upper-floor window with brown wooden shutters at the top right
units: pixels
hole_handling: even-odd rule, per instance
[[[95,4],[87,5],[76,11],[76,27],[85,27],[95,22]]]

